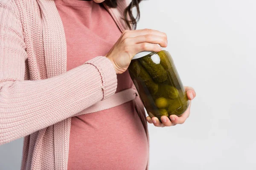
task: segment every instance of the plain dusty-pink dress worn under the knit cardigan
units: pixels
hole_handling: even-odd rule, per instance
[[[104,6],[93,1],[55,0],[67,41],[67,71],[104,56],[121,35]],[[126,71],[116,93],[132,88]],[[71,119],[68,170],[145,170],[148,142],[132,101]]]

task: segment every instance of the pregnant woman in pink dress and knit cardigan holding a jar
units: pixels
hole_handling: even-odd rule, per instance
[[[0,144],[25,137],[22,170],[145,170],[146,120],[185,122],[189,109],[146,118],[128,74],[135,54],[167,46],[134,30],[140,1],[0,1]]]

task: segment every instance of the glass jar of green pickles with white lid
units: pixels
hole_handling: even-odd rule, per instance
[[[128,67],[140,98],[150,117],[182,115],[189,100],[168,51],[143,51]]]

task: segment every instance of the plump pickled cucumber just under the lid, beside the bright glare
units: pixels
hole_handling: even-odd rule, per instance
[[[140,63],[148,71],[150,76],[156,82],[164,82],[167,79],[167,73],[161,64],[152,61],[151,57],[142,57]]]

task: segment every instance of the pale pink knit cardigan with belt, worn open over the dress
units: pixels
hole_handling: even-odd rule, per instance
[[[107,8],[121,31],[127,0]],[[106,57],[66,71],[64,28],[54,0],[0,1],[0,144],[24,137],[22,170],[66,170],[71,117],[133,100],[134,89],[114,94],[116,74]],[[136,101],[136,102],[135,102]]]

